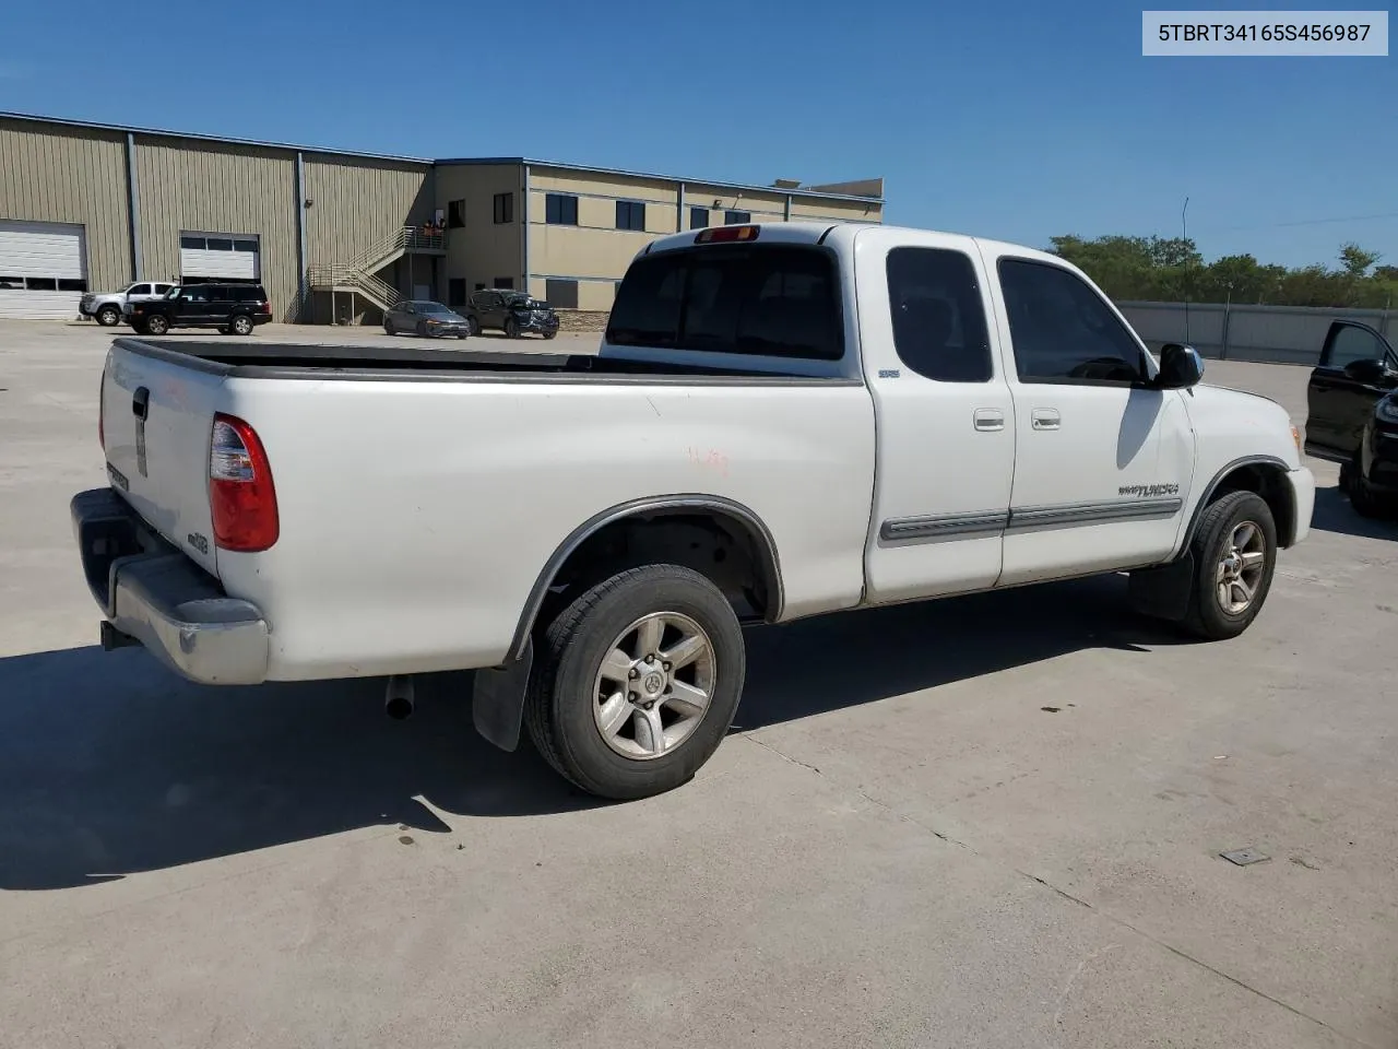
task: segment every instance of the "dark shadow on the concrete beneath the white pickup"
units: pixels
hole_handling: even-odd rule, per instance
[[[735,729],[1177,636],[1092,579],[748,631]],[[382,681],[203,688],[140,650],[0,659],[0,890],[95,884],[323,835],[597,804],[533,754],[481,740],[468,674],[418,683],[408,722]],[[935,705],[935,694],[927,697]],[[436,811],[433,811],[436,810]],[[460,824],[466,824],[463,828]]]

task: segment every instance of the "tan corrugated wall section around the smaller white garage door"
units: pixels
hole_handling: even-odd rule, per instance
[[[144,277],[179,278],[179,234],[256,234],[273,316],[296,308],[296,154],[136,136]]]

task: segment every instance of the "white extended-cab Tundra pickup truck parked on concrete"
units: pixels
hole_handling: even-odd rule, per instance
[[[74,498],[108,648],[210,684],[477,669],[596,794],[685,782],[744,622],[1130,572],[1240,634],[1314,480],[1061,259],[879,225],[677,234],[596,357],[115,341]]]

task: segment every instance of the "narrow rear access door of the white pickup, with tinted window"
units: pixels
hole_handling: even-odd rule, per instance
[[[878,432],[867,600],[990,587],[1001,569],[1015,414],[974,241],[861,231],[856,285]]]

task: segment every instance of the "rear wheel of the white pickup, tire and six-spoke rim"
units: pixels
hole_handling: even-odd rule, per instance
[[[695,645],[698,659],[674,671],[637,659],[649,655],[642,650],[647,642],[632,628],[660,615],[668,621],[658,641],[651,634],[653,652],[672,652],[686,636],[706,642]],[[535,641],[538,662],[524,702],[530,737],[556,772],[598,797],[650,797],[689,782],[738,709],[747,673],[738,617],[719,587],[693,569],[646,565],[619,572],[579,594]],[[637,664],[637,691],[629,695],[643,701],[649,687],[657,697],[647,709],[622,694],[629,683],[605,677],[604,659],[618,649]],[[689,691],[695,685],[702,691]],[[706,705],[695,713],[671,691],[681,688],[707,694]],[[601,699],[604,691],[612,692],[611,701]],[[600,722],[608,706],[619,715],[605,734]],[[660,747],[649,727],[657,722]]]

